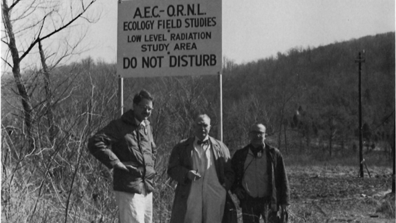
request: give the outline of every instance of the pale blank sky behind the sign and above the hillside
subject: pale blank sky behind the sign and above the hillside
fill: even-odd
[[[116,62],[117,1],[98,0],[81,55]],[[394,0],[223,0],[223,56],[236,63],[395,31]]]

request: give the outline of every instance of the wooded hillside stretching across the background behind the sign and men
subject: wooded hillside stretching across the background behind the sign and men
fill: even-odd
[[[361,52],[364,137],[367,143],[390,140],[395,108],[395,33],[378,34],[316,48],[291,48],[270,58],[236,64],[223,60],[224,141],[232,150],[246,144],[247,129],[254,122],[267,125],[270,140],[280,148],[311,141],[347,144],[358,137],[358,63]],[[32,76],[37,78],[33,79]],[[27,84],[39,85],[40,71],[25,74]],[[53,97],[62,113],[59,121],[82,100],[95,115],[116,117],[117,75],[114,64],[86,58],[51,70]],[[4,82],[3,82],[4,83]],[[94,87],[92,87],[94,86]],[[2,96],[13,94],[5,86]],[[218,81],[215,76],[124,79],[126,109],[141,88],[156,96],[152,116],[156,138],[172,144],[188,136],[196,113],[212,117],[211,134],[217,136]],[[36,88],[34,88],[36,89]],[[106,95],[103,95],[106,94]],[[32,91],[36,102],[40,92]],[[95,113],[96,100],[107,100]],[[100,102],[103,103],[103,102]],[[88,104],[88,105],[87,105]],[[4,110],[6,109],[6,110]],[[2,114],[14,109],[2,102]],[[82,112],[81,111],[81,112]],[[103,113],[105,111],[105,113]],[[109,116],[110,115],[110,116]],[[72,118],[72,117],[69,117]],[[6,119],[7,120],[7,119]],[[106,123],[100,123],[103,126]],[[288,138],[289,137],[289,138]],[[170,140],[169,140],[170,139]],[[302,142],[304,141],[304,144]],[[330,146],[331,147],[331,146]],[[170,149],[167,148],[167,150]]]

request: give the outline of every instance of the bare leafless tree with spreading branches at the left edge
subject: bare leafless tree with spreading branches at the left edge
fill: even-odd
[[[32,136],[32,127],[34,123],[34,106],[31,101],[31,92],[29,92],[21,73],[21,62],[29,55],[33,54],[34,46],[40,44],[41,62],[43,63],[44,73],[48,74],[48,67],[45,64],[44,52],[41,47],[43,40],[49,40],[61,31],[67,30],[72,24],[76,24],[78,19],[86,19],[83,15],[95,3],[96,0],[69,0],[69,7],[65,7],[63,1],[45,1],[30,0],[10,1],[2,0],[2,17],[4,24],[4,33],[2,43],[6,45],[6,51],[2,54],[2,60],[8,65],[13,74],[17,94],[21,98],[23,106],[23,119],[26,126],[25,135],[29,140],[29,151],[34,150],[34,138]],[[78,4],[77,4],[78,3]],[[64,11],[64,12],[63,12]],[[81,41],[77,41],[76,44]],[[70,55],[76,48],[76,44],[70,44],[66,41],[67,50],[59,56],[55,62],[58,64],[63,58]],[[56,54],[56,53],[54,53]],[[32,55],[33,56],[33,55]],[[49,76],[46,76],[49,77]],[[46,86],[49,87],[49,79],[46,78]],[[49,89],[49,88],[48,88]],[[49,91],[46,91],[50,94]],[[47,99],[51,103],[51,97]],[[49,105],[49,104],[48,104]],[[51,120],[51,118],[49,118]],[[49,124],[51,126],[51,124]]]

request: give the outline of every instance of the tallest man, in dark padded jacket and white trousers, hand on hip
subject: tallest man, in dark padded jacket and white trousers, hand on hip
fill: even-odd
[[[150,93],[141,90],[133,98],[133,110],[111,121],[89,138],[88,149],[109,169],[120,223],[152,222],[155,144],[147,118],[152,112]]]

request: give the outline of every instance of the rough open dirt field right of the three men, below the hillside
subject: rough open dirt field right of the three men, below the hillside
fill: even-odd
[[[389,194],[392,169],[369,167],[289,166],[289,223],[394,223],[395,197]],[[239,222],[242,222],[242,216]],[[261,220],[263,222],[263,220]]]

